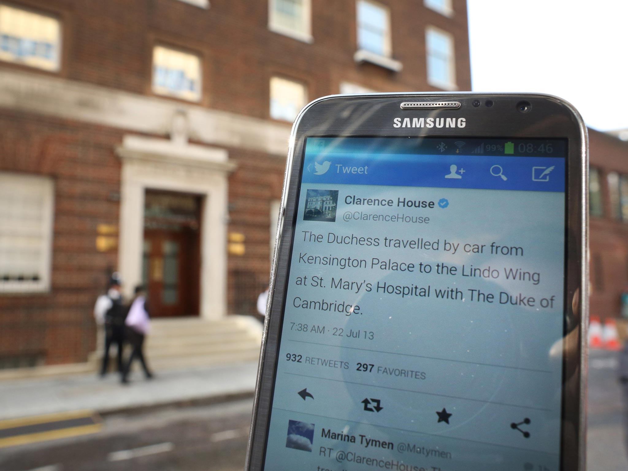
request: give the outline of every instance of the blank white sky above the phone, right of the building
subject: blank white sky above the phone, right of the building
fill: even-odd
[[[543,92],[628,129],[628,0],[468,0],[476,92]]]

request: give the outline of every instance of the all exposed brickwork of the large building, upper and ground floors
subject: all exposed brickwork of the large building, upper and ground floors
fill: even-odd
[[[58,73],[8,63],[0,68],[151,96],[153,46],[170,45],[202,58],[201,106],[261,119],[270,119],[273,75],[304,82],[310,100],[338,93],[341,82],[382,92],[436,90],[426,82],[428,24],[453,35],[458,89],[470,89],[465,0],[453,0],[452,18],[421,1],[380,0],[391,11],[393,58],[403,63],[398,73],[354,61],[353,0],[312,2],[311,44],[269,31],[267,0],[212,0],[207,10],[178,0],[11,3],[60,18],[62,68]],[[0,171],[55,179],[51,293],[0,296],[0,357],[42,354],[55,364],[85,360],[94,350],[94,300],[107,270],[117,266],[117,251],[98,252],[95,237],[98,224],[119,223],[121,169],[114,149],[122,134],[0,109]],[[246,238],[246,253],[229,256],[228,310],[251,312],[268,282],[270,205],[281,197],[285,158],[227,150],[238,165],[229,179],[229,232]]]

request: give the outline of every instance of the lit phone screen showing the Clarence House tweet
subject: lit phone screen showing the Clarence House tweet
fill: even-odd
[[[266,470],[560,468],[566,150],[306,139]]]

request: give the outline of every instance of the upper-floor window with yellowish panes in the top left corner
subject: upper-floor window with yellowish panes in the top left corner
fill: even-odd
[[[0,4],[0,60],[55,72],[60,50],[58,19]]]

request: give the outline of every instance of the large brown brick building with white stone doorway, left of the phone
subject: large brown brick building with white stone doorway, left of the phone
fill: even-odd
[[[296,112],[469,89],[464,0],[0,1],[0,368],[86,360],[113,270],[251,313]]]

